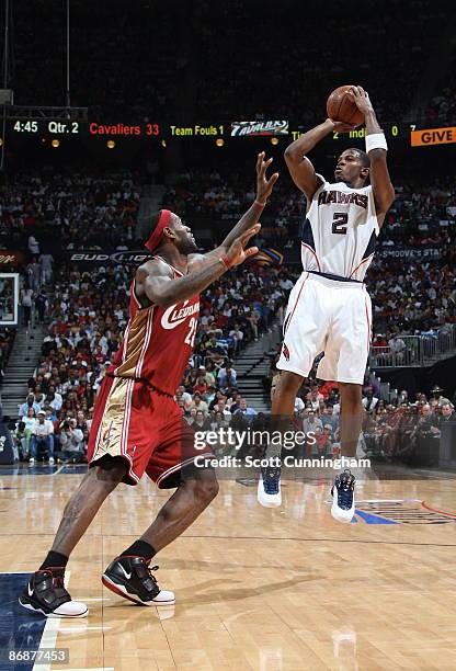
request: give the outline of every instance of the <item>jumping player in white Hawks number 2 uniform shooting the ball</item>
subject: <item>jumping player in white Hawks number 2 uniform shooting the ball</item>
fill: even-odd
[[[327,118],[285,151],[293,181],[306,194],[307,216],[301,228],[304,272],[292,289],[285,316],[277,363],[283,373],[272,419],[276,429],[286,429],[304,378],[315,357],[324,352],[317,377],[339,383],[341,453],[352,457],[361,432],[362,384],[371,343],[372,307],[363,280],[395,190],[385,135],[368,94],[362,87],[351,87],[346,95],[364,116],[366,151],[342,151],[333,182],[315,171],[307,153],[334,130],[344,133],[355,126]],[[266,455],[277,457],[277,450],[271,445]],[[276,463],[271,459],[271,466],[262,469],[258,489],[260,503],[271,508],[282,501]],[[354,487],[355,475],[350,470],[335,477],[331,508],[335,520],[351,522]]]

